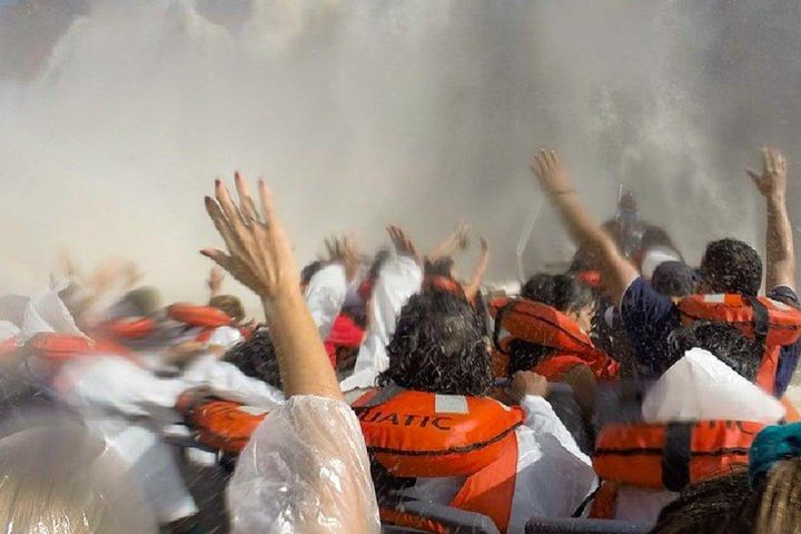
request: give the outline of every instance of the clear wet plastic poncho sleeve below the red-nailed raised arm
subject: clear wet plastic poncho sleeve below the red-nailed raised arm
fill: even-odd
[[[362,428],[343,402],[291,397],[239,455],[228,485],[235,534],[378,534]]]

